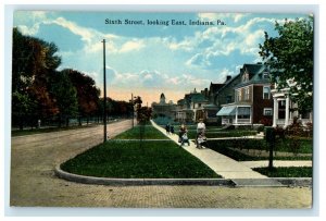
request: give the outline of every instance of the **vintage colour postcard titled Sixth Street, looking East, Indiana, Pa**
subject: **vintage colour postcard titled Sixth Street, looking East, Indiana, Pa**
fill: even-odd
[[[314,19],[15,11],[10,205],[311,209]]]

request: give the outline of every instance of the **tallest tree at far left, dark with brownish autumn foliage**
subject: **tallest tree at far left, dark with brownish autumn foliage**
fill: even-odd
[[[57,52],[58,48],[54,44],[24,36],[17,28],[13,28],[13,122],[15,119],[23,121],[27,119],[27,121],[33,122],[37,120],[29,118],[41,118],[58,113],[54,99],[48,90],[50,73],[55,72],[61,63],[61,58],[55,56]],[[32,100],[33,102],[30,102]],[[21,106],[25,108],[22,109]],[[20,122],[21,128],[23,128],[23,122]]]

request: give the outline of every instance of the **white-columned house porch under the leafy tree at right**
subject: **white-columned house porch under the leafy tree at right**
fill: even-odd
[[[293,86],[296,83],[293,81],[288,81],[289,86]],[[302,125],[306,123],[312,123],[313,114],[312,112],[299,113],[298,105],[291,100],[289,88],[278,88],[277,84],[272,89],[274,112],[273,112],[273,126],[287,127],[292,124],[293,119],[298,118]]]

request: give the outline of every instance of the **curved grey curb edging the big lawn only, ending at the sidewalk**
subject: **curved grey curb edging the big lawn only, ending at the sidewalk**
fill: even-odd
[[[65,172],[55,167],[54,173],[60,179],[84,184],[96,185],[121,185],[121,186],[138,186],[138,185],[209,185],[209,186],[235,186],[231,180],[226,179],[113,179],[113,177],[96,177],[85,176]]]

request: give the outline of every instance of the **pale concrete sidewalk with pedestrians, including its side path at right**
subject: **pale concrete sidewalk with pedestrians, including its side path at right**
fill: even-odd
[[[174,140],[176,144],[179,145],[178,143],[178,135],[176,134],[171,134],[167,135],[165,130],[158,124],[155,124],[153,121],[152,125],[161,131],[165,136]],[[269,179],[265,175],[262,175],[255,171],[253,171],[251,168],[254,167],[262,167],[262,165],[267,165],[267,161],[248,161],[248,162],[238,162],[229,157],[226,157],[224,155],[221,155],[214,150],[211,150],[209,148],[204,149],[198,149],[196,147],[196,144],[193,142],[190,142],[190,146],[188,144],[185,144],[183,146],[185,150],[200,159],[202,162],[204,162],[208,167],[210,167],[213,171],[215,171],[217,174],[222,175],[224,179],[229,179],[233,180],[237,185],[248,185],[250,183],[251,185],[273,185],[273,186],[280,186],[279,182]],[[275,164],[292,164],[293,162],[284,162],[283,161],[275,161]],[[297,162],[294,162],[297,163]],[[302,163],[308,163],[309,162],[299,162],[299,165],[302,165]],[[311,162],[310,162],[311,165]]]

